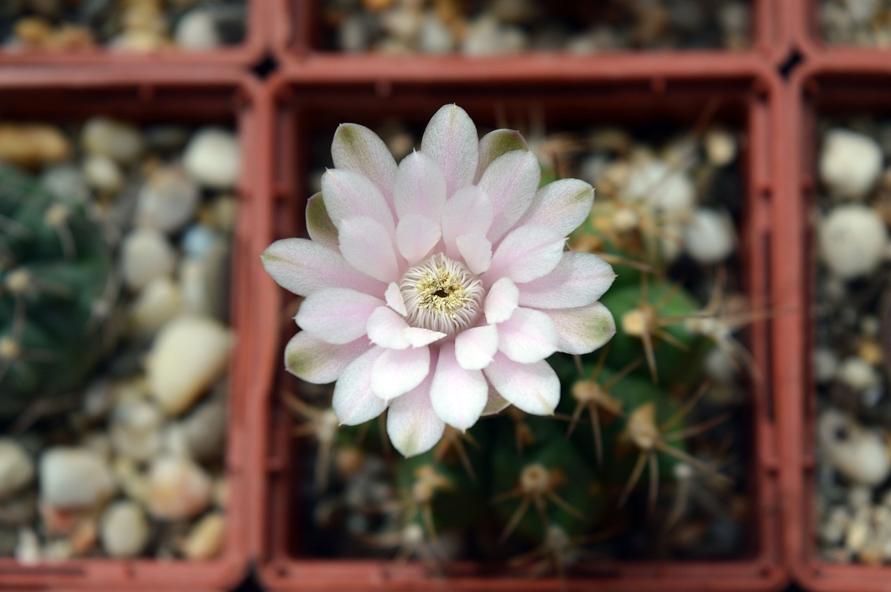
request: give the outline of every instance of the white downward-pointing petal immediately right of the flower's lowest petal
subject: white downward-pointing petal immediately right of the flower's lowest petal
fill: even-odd
[[[454,357],[454,344],[439,348],[439,361],[430,384],[430,401],[449,426],[466,430],[477,423],[488,401],[489,386],[479,370],[465,370]]]

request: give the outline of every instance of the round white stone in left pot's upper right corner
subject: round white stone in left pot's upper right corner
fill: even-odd
[[[188,174],[210,189],[232,189],[241,172],[238,138],[218,127],[205,127],[185,147],[183,164]]]

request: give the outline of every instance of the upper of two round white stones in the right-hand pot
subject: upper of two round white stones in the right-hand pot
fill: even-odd
[[[882,172],[882,149],[870,136],[830,130],[820,154],[820,179],[839,198],[862,199]]]

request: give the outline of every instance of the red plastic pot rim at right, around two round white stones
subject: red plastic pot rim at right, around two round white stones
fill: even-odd
[[[817,118],[822,114],[891,114],[891,61],[878,53],[859,53],[854,62],[839,63],[827,52],[796,72],[787,92],[787,117],[778,146],[788,149],[786,176],[789,199],[782,215],[785,231],[774,251],[776,265],[797,289],[781,295],[789,311],[779,317],[774,340],[777,397],[781,399],[782,448],[791,453],[784,473],[789,512],[784,544],[796,580],[813,590],[885,591],[891,567],[830,564],[819,561],[815,534],[816,397],[813,384],[813,302],[815,255],[808,225],[816,187]],[[832,50],[831,53],[836,53]],[[833,56],[834,58],[835,56]]]

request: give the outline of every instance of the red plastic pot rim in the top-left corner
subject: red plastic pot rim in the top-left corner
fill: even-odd
[[[244,41],[207,51],[180,51],[169,48],[159,52],[111,52],[102,46],[78,52],[44,52],[25,50],[0,51],[0,66],[96,66],[96,65],[151,65],[155,66],[251,66],[257,63],[269,45],[272,8],[270,0],[246,0],[248,26]]]

